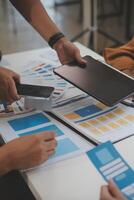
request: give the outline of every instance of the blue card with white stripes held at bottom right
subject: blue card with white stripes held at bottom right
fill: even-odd
[[[106,181],[113,179],[128,199],[134,199],[134,171],[111,142],[95,147],[87,156]]]

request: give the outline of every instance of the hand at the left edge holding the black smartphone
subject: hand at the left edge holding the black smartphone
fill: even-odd
[[[15,82],[20,82],[20,77],[15,72],[0,67],[0,100],[12,103],[19,99]]]

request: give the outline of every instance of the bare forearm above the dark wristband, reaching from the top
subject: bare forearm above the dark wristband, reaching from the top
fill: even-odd
[[[10,1],[46,41],[48,41],[52,35],[59,32],[58,27],[48,16],[40,0]]]

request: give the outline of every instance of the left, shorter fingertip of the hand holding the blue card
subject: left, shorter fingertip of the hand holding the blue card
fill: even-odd
[[[101,187],[100,199],[101,200],[112,200],[112,196],[109,193],[107,185],[104,185],[104,186]]]

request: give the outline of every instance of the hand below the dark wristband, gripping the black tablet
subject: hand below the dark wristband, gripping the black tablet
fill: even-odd
[[[72,60],[76,60],[80,64],[86,63],[81,57],[79,49],[66,38],[61,38],[53,48],[57,51],[62,64],[67,64]]]

